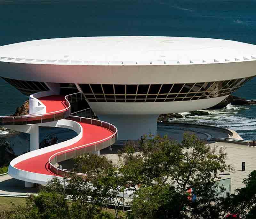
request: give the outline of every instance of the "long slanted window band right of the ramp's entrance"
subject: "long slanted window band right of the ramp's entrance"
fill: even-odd
[[[79,84],[89,102],[172,102],[226,96],[252,77],[179,84]]]

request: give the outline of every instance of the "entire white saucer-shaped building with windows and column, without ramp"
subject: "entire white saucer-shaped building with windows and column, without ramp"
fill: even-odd
[[[119,140],[155,134],[159,114],[216,105],[255,67],[256,45],[206,38],[76,37],[0,47],[7,82],[26,94],[32,82],[42,82],[37,91],[82,91],[94,113],[116,125]]]

